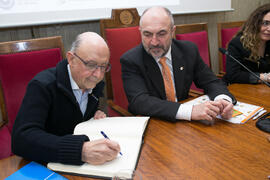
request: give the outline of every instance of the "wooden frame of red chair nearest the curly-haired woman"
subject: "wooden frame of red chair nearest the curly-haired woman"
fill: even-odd
[[[221,38],[221,30],[227,28],[235,28],[241,27],[245,21],[234,21],[234,22],[221,22],[217,23],[217,31],[218,31],[218,48],[222,48],[222,38]],[[222,53],[218,53],[219,59],[219,77],[223,77],[225,71],[223,69],[223,56]]]

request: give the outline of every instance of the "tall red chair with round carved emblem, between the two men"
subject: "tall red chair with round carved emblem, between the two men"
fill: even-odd
[[[109,116],[130,116],[121,77],[120,57],[141,42],[139,15],[135,8],[113,9],[111,19],[100,20],[102,37],[110,48],[112,69],[105,76]]]

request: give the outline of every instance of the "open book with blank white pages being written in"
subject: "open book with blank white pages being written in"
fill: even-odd
[[[107,117],[104,119],[90,119],[78,124],[74,134],[85,134],[91,140],[104,138],[101,131],[111,139],[119,143],[121,155],[103,165],[83,164],[65,165],[61,163],[48,163],[48,168],[58,172],[66,172],[92,177],[111,178],[123,176],[132,178],[136,169],[140,149],[143,140],[144,130],[149,117]]]

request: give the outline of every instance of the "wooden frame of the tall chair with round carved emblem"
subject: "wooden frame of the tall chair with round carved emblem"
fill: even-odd
[[[138,26],[140,21],[140,16],[136,8],[128,9],[113,9],[110,19],[100,20],[100,32],[101,36],[106,40],[105,29],[110,28],[125,28]],[[131,116],[132,114],[126,109],[116,105],[113,102],[113,88],[110,72],[106,73],[106,90],[107,90],[107,103],[116,112],[124,116]]]

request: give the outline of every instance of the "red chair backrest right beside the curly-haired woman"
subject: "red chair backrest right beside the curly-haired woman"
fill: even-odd
[[[228,43],[245,21],[222,22],[217,24],[218,47],[227,49]],[[226,72],[226,56],[219,53],[219,72]]]

